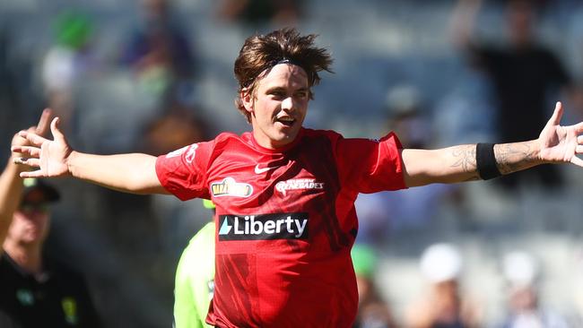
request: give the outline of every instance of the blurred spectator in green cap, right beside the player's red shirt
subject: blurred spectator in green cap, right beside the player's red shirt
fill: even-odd
[[[380,297],[374,282],[377,255],[369,246],[356,244],[352,247],[352,264],[356,273],[359,294],[359,308],[353,328],[393,328],[396,327],[389,306]]]

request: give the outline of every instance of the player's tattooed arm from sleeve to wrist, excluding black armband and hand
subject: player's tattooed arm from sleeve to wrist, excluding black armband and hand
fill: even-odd
[[[464,144],[434,151],[403,150],[406,186],[457,183],[481,179],[475,157],[475,144]],[[509,174],[542,164],[536,141],[494,145],[496,166]]]

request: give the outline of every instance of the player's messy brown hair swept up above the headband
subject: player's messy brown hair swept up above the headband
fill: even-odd
[[[308,74],[309,87],[320,82],[318,72],[332,73],[332,56],[326,48],[314,46],[316,37],[315,34],[302,36],[295,29],[286,28],[265,35],[253,35],[245,40],[235,60],[234,72],[239,82],[239,97],[235,105],[247,117],[248,123],[251,116],[245,110],[240,94],[242,91],[253,94],[260,77],[265,76],[274,65],[282,62],[299,65]],[[313,98],[311,89],[309,98]]]

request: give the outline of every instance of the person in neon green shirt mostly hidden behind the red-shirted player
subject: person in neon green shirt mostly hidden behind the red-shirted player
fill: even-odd
[[[204,207],[214,209],[211,201]],[[204,328],[214,291],[214,221],[200,229],[184,249],[176,269],[174,327]]]

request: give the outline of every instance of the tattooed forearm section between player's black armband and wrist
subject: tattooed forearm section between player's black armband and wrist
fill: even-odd
[[[533,166],[535,151],[531,142],[496,144],[494,156],[500,173],[509,174]]]

